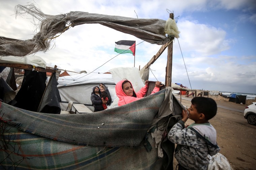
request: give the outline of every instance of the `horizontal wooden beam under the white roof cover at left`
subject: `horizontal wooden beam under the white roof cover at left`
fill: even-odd
[[[13,68],[24,69],[24,70],[33,69],[33,66],[29,64],[0,63],[0,66],[13,67]],[[35,70],[40,72],[50,72],[50,73],[54,73],[56,71],[56,69],[49,68],[49,67],[48,68],[35,67]]]

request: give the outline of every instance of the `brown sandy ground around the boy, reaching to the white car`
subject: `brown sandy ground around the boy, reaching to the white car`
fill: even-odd
[[[180,96],[175,96],[180,101]],[[191,105],[191,98],[182,96],[181,103]],[[250,125],[244,118],[246,105],[216,101],[217,115],[210,123],[217,131],[217,143],[234,170],[256,170],[256,126]],[[188,119],[187,124],[194,121]],[[173,169],[177,161],[173,160]]]

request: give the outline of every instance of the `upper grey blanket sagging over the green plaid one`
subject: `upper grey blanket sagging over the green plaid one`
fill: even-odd
[[[156,114],[169,103],[164,99],[169,99],[166,92],[171,95],[170,89],[124,106],[86,114],[45,114],[2,103],[0,116],[1,121],[19,130],[76,145],[138,146],[147,130],[159,121]],[[166,109],[162,117],[174,114],[170,106]]]

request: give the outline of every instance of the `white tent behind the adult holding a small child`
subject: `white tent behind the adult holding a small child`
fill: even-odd
[[[72,101],[73,103],[85,104],[90,110],[93,110],[91,102],[92,89],[95,86],[99,87],[101,82],[108,88],[113,101],[116,98],[116,84],[111,74],[82,73],[59,77],[57,87],[62,101],[60,104],[61,109],[65,110],[67,103]]]

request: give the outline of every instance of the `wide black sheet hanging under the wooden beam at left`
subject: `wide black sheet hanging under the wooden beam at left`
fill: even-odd
[[[10,105],[36,112],[46,88],[46,72],[24,71],[21,89]]]

